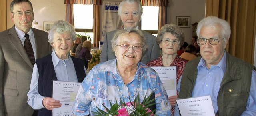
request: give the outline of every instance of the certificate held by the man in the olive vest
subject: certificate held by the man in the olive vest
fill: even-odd
[[[177,99],[182,116],[215,116],[211,96]]]

